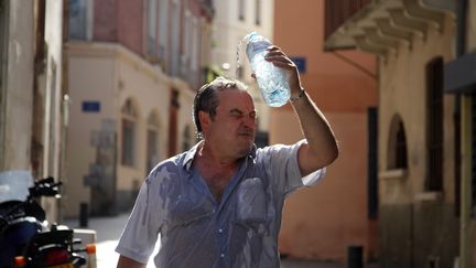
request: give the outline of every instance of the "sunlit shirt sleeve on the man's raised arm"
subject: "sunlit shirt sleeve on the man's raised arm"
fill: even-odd
[[[298,163],[298,151],[306,140],[292,146],[275,144],[262,149],[267,172],[273,183],[286,196],[299,187],[315,185],[324,178],[326,169],[320,169],[302,178]]]

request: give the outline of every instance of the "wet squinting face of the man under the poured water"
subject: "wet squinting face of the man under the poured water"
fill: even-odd
[[[205,137],[228,157],[246,157],[255,142],[256,110],[251,96],[236,88],[217,93],[218,107]]]

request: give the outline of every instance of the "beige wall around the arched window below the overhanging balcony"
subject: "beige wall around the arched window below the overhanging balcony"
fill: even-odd
[[[380,62],[379,103],[379,171],[380,202],[382,204],[411,203],[424,199],[426,176],[426,78],[425,66],[432,58],[443,56],[444,62],[453,57],[454,23],[446,20],[444,33],[431,28],[426,40],[415,37],[409,51],[401,45],[388,62]],[[396,57],[398,55],[398,57]],[[412,67],[409,67],[412,66]],[[454,200],[453,178],[453,96],[444,95],[444,199]],[[388,144],[391,119],[402,118],[408,148],[408,175],[386,179],[388,169]]]

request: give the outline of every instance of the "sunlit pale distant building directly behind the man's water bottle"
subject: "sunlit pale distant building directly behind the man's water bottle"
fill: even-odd
[[[268,144],[269,107],[251,77],[242,40],[248,33],[256,31],[272,42],[274,0],[215,1],[215,10],[212,66],[218,73],[238,78],[249,86],[258,112],[256,143],[263,147]]]

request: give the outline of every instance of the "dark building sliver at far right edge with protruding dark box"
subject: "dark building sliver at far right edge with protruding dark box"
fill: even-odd
[[[455,98],[461,268],[476,267],[476,1],[458,1],[456,53],[444,66],[444,92]]]

